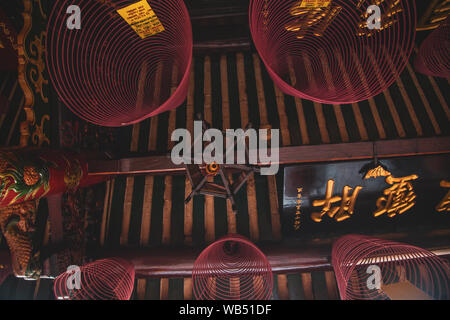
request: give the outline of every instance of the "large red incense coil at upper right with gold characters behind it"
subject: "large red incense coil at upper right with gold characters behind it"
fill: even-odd
[[[381,11],[380,29],[367,24],[372,4]],[[275,84],[319,103],[381,93],[401,74],[415,39],[413,1],[251,0],[249,11],[253,41]]]

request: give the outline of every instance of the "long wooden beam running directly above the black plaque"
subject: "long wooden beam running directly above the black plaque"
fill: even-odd
[[[374,154],[376,150],[376,155]],[[297,146],[280,148],[280,165],[349,161],[378,158],[407,157],[450,153],[450,137],[382,140],[375,142],[355,142]],[[259,165],[267,165],[259,163]],[[183,174],[185,167],[175,165],[170,156],[148,156],[119,160],[92,161],[89,174]]]

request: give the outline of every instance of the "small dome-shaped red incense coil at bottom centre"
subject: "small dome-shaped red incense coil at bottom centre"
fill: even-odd
[[[272,296],[272,268],[252,242],[229,235],[198,256],[192,286],[197,300],[268,300]]]

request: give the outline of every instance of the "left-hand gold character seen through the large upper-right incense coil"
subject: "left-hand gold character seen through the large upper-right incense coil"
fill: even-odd
[[[341,10],[342,7],[333,6],[331,1],[318,2],[312,6],[305,6],[302,1],[296,2],[289,13],[298,18],[287,24],[285,29],[296,32],[298,39],[303,39],[308,30],[321,37]]]

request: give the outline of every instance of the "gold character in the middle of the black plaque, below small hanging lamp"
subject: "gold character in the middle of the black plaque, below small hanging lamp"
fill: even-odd
[[[384,190],[383,193],[386,197],[378,198],[378,210],[374,212],[374,217],[387,213],[388,217],[392,218],[397,214],[402,214],[411,209],[416,204],[416,195],[413,186],[409,181],[418,178],[419,177],[415,174],[402,178],[388,176],[386,182],[392,185],[392,187]]]

